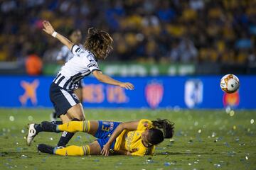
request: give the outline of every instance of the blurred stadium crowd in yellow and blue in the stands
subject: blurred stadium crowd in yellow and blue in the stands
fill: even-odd
[[[109,60],[138,62],[256,62],[256,0],[4,0],[0,2],[0,61],[36,54],[53,62],[60,43],[41,30],[48,20],[106,30]]]

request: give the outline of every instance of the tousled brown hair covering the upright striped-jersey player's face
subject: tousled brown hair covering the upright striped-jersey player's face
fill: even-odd
[[[113,39],[108,33],[97,28],[89,28],[85,40],[85,48],[90,50],[97,59],[104,60],[112,50]]]

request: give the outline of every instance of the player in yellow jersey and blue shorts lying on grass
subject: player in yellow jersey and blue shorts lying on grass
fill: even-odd
[[[119,123],[111,121],[71,121],[63,125],[42,122],[41,132],[87,132],[97,138],[85,146],[71,145],[58,148],[45,144],[38,145],[40,152],[68,156],[82,155],[149,155],[154,153],[155,145],[171,138],[174,134],[174,123],[169,120],[136,120]],[[38,134],[38,132],[36,132]]]

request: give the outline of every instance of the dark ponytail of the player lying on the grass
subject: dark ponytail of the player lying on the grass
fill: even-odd
[[[155,128],[162,129],[164,138],[171,138],[174,135],[174,123],[168,119],[156,119],[151,121]]]

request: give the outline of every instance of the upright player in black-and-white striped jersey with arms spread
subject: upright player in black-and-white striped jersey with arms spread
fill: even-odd
[[[89,28],[83,45],[84,48],[81,48],[63,35],[55,32],[48,21],[43,21],[43,30],[52,35],[53,38],[60,40],[74,55],[61,67],[50,85],[50,101],[52,101],[62,123],[68,123],[71,120],[85,120],[82,104],[73,91],[78,88],[78,82],[89,74],[93,74],[96,79],[105,84],[112,84],[129,90],[134,89],[133,84],[117,81],[100,71],[97,60],[105,60],[112,50],[113,40],[105,31]],[[27,145],[31,145],[33,138],[41,130],[41,126],[33,123],[28,125]],[[72,132],[63,132],[57,146],[65,147],[73,135]]]

